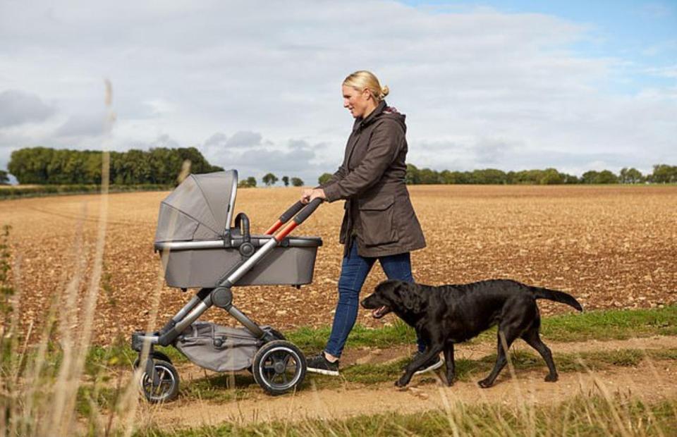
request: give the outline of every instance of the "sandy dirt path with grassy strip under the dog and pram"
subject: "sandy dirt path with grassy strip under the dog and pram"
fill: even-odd
[[[556,352],[585,352],[627,348],[663,349],[677,347],[677,337],[633,338],[608,342],[551,343]],[[362,354],[358,362],[385,362],[398,359],[404,348]],[[459,347],[458,357],[477,359],[493,352],[487,344]],[[358,354],[355,354],[358,355]],[[383,359],[386,358],[386,359]],[[140,414],[146,421],[163,428],[215,425],[226,421],[244,424],[255,421],[298,421],[309,418],[340,419],[358,414],[384,412],[413,413],[425,410],[444,410],[456,402],[473,405],[482,402],[511,404],[517,399],[525,402],[560,402],[579,394],[632,393],[642,400],[677,398],[677,362],[643,361],[638,367],[616,367],[594,374],[560,374],[557,383],[543,381],[545,366],[538,371],[519,371],[516,379],[504,369],[489,389],[478,388],[473,382],[457,382],[444,386],[437,376],[415,377],[405,390],[392,383],[355,388],[346,381],[343,388],[304,390],[296,395],[272,398],[254,393],[246,400],[210,403],[182,399],[170,405],[146,405]],[[432,381],[437,378],[437,382]]]

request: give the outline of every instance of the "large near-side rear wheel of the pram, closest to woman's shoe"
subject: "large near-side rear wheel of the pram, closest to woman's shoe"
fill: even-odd
[[[305,369],[303,352],[284,340],[263,345],[252,364],[254,381],[271,395],[281,395],[300,386]]]

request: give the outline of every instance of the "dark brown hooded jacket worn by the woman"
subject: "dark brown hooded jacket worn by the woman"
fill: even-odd
[[[404,183],[407,170],[405,116],[381,101],[358,118],[346,144],[343,164],[322,185],[329,202],[346,199],[339,240],[358,254],[384,257],[425,247],[425,238]]]

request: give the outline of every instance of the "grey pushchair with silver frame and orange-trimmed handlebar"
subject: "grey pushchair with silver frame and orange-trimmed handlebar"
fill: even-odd
[[[240,312],[233,304],[233,288],[311,283],[322,239],[288,235],[322,200],[296,202],[264,235],[251,235],[243,212],[231,227],[237,187],[236,170],[190,175],[160,204],[154,249],[165,281],[183,291],[198,290],[159,331],[132,334],[132,348],[139,352],[135,367],[142,367],[140,388],[150,402],[178,396],[178,372],[167,355],[155,350],[158,345],[176,347],[206,369],[248,369],[271,395],[295,390],[303,382],[303,352],[276,329]],[[197,321],[212,306],[226,310],[243,327]]]

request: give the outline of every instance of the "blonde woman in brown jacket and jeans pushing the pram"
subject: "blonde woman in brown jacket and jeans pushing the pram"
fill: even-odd
[[[358,315],[360,289],[378,259],[389,279],[413,282],[410,252],[425,247],[421,226],[404,183],[407,141],[404,118],[386,105],[388,87],[369,71],[343,81],[343,107],[355,118],[343,164],[319,187],[304,190],[301,202],[317,197],[345,199],[339,240],[344,245],[338,303],[329,342],[308,359],[308,371],[338,376],[338,359]],[[425,349],[418,342],[418,352]],[[437,369],[439,357],[419,372]]]

